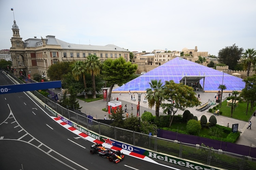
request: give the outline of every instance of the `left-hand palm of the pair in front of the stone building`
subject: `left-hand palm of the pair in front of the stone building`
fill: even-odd
[[[75,67],[72,70],[72,74],[75,78],[75,80],[79,80],[80,77],[83,77],[84,80],[84,89],[85,89],[85,98],[87,99],[87,86],[86,86],[86,80],[85,80],[85,74],[86,74],[86,69],[85,69],[85,62],[77,61],[75,62]]]

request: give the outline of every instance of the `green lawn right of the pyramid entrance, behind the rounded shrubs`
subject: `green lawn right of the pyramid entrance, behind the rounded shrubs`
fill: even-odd
[[[246,102],[239,102],[238,106],[235,108],[235,111],[233,111],[233,118],[238,119],[238,120],[243,120],[243,121],[248,121],[253,112],[255,111],[255,108],[250,112],[250,107],[251,105],[249,104],[249,108],[248,108],[248,112],[246,115],[246,107],[247,107],[247,103]],[[227,116],[227,117],[231,117],[231,107],[227,106],[227,101],[223,101],[222,102],[222,106],[221,108],[216,107],[216,109],[219,109],[219,111],[222,111],[222,115],[223,116]],[[213,113],[214,111],[212,111]]]

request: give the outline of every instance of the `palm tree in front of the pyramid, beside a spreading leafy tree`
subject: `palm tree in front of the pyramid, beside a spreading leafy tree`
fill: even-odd
[[[162,82],[161,80],[151,80],[150,88],[147,89],[146,99],[148,101],[148,107],[152,108],[156,105],[156,116],[159,116],[159,108],[162,102]]]

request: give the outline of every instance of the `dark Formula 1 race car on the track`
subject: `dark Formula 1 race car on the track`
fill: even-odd
[[[114,163],[120,162],[125,157],[125,155],[121,153],[119,150],[113,151],[112,149],[102,147],[102,145],[99,143],[94,143],[91,146],[90,153],[96,153],[99,156],[102,156],[103,158],[109,158],[109,161]]]

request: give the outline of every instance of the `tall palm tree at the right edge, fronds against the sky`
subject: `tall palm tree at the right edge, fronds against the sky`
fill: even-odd
[[[247,70],[247,77],[249,77],[251,65],[253,65],[253,67],[255,68],[256,50],[254,50],[254,48],[248,48],[247,50],[245,50],[242,56],[242,60],[244,63],[244,67]]]

